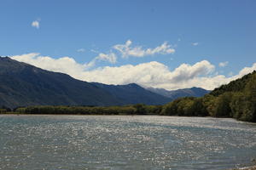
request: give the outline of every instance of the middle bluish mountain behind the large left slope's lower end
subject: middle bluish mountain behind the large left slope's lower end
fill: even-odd
[[[125,104],[143,103],[146,105],[163,105],[172,99],[164,97],[160,94],[154,94],[135,83],[127,85],[106,85],[98,82],[92,82],[99,88],[106,90],[117,99]]]

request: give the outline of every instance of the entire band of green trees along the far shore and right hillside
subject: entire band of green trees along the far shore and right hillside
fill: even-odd
[[[0,113],[9,112],[8,108]],[[166,105],[125,106],[30,106],[14,110],[20,114],[148,115],[233,117],[256,122],[256,71],[215,88],[201,98],[184,97]]]

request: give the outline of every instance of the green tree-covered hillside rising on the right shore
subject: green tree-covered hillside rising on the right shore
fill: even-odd
[[[256,71],[214,89],[202,98],[180,98],[164,105],[161,115],[234,117],[256,122]]]

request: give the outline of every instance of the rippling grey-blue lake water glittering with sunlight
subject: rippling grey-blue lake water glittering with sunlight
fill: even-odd
[[[225,169],[256,124],[176,116],[0,116],[0,169]]]

